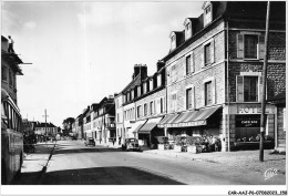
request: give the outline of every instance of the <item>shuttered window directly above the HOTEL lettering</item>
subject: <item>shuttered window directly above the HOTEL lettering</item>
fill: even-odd
[[[258,75],[238,75],[237,102],[260,102],[263,78]]]

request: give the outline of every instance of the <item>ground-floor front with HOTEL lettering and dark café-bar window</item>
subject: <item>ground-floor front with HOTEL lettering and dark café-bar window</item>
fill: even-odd
[[[275,138],[275,106],[267,104],[265,114],[265,148],[272,148]],[[235,103],[229,106],[229,140],[232,149],[259,148],[260,117],[260,103]]]

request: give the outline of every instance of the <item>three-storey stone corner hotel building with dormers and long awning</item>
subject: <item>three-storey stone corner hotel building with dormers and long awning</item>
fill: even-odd
[[[285,2],[271,2],[267,100],[286,91]],[[267,2],[206,1],[203,14],[171,32],[165,134],[213,135],[229,151],[260,133]],[[275,105],[267,103],[266,135],[275,137]]]

